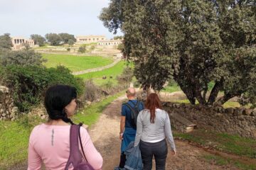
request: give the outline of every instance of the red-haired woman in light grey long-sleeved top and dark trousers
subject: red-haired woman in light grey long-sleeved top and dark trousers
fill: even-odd
[[[156,160],[156,170],[162,170],[165,169],[168,153],[166,138],[171,145],[171,154],[176,154],[169,115],[161,109],[161,101],[157,94],[149,94],[145,108],[139,112],[137,118],[134,146],[139,145],[144,170],[152,169],[153,155]]]

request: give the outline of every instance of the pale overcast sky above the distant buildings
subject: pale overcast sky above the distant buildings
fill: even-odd
[[[109,0],[0,0],[0,35],[114,35],[99,20]],[[117,35],[122,35],[120,31]]]

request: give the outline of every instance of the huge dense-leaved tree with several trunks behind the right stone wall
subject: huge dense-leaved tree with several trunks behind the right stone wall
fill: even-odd
[[[253,0],[111,0],[100,19],[124,33],[124,55],[134,60],[145,89],[174,79],[193,104],[238,96],[255,105],[255,6]]]

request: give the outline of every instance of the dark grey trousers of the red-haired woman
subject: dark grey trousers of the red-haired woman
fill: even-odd
[[[166,140],[162,140],[156,143],[139,142],[139,149],[142,153],[143,170],[152,169],[153,155],[156,160],[156,170],[164,170],[166,165],[166,157],[168,153],[168,147]]]

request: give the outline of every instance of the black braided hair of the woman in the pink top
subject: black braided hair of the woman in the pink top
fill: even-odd
[[[77,98],[77,91],[73,86],[54,85],[46,91],[44,105],[50,120],[63,120],[65,123],[74,124],[65,112],[65,106]]]

